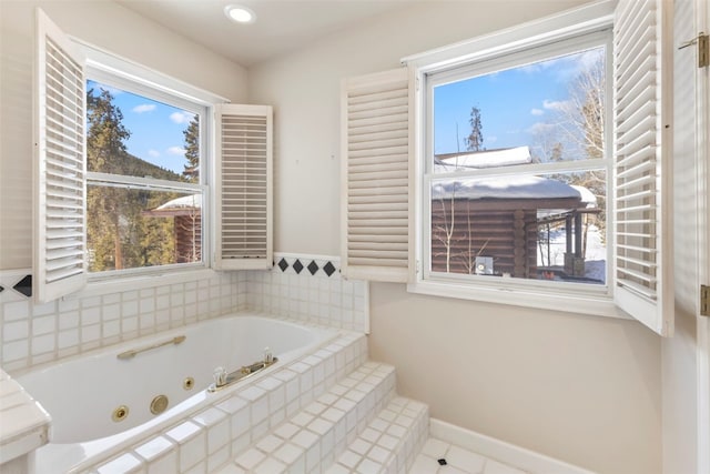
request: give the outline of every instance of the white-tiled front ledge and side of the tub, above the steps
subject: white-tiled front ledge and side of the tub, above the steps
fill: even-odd
[[[335,340],[258,380],[211,394],[172,425],[113,445],[72,472],[213,473],[337,386],[367,359],[364,334]],[[393,380],[394,383],[394,380]],[[394,386],[394,385],[393,385]]]

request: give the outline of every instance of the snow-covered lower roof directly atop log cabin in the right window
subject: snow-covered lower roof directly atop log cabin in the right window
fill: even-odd
[[[484,199],[581,199],[581,193],[569,184],[540,177],[496,177],[448,180],[435,184],[432,198]],[[591,193],[590,193],[591,194]]]

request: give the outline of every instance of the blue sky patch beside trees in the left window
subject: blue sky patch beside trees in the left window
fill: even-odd
[[[125,141],[129,153],[161,168],[182,173],[185,138],[193,113],[131,92],[89,81],[88,89],[106,89],[123,113],[123,125],[131,132]]]

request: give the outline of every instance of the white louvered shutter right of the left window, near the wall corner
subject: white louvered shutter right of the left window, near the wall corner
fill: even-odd
[[[216,107],[217,269],[272,266],[272,117],[268,105]]]

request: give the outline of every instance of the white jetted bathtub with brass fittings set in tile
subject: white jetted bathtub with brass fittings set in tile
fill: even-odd
[[[91,457],[175,424],[336,334],[335,330],[233,314],[17,376],[52,417],[51,442],[37,450],[30,463],[36,473],[90,465]],[[278,361],[214,393],[206,390],[215,367],[232,372],[262,361],[265,351]],[[164,411],[153,414],[151,409]]]

